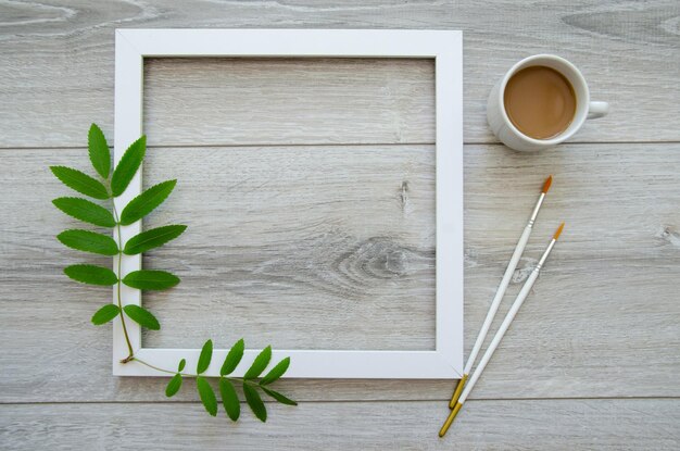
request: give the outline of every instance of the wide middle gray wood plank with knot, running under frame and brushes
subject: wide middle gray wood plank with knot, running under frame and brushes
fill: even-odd
[[[554,227],[567,221],[474,398],[680,396],[679,150],[678,145],[572,145],[526,155],[501,146],[466,147],[467,352],[549,173],[555,183],[508,297]],[[316,173],[322,160],[314,155],[322,151],[328,171]],[[352,158],[341,158],[348,152]],[[85,149],[2,151],[0,189],[11,193],[0,200],[2,402],[164,399],[165,379],[111,376],[110,328],[89,324],[110,291],[75,285],[61,274],[78,256],[53,235],[76,223],[49,204],[67,191],[47,164],[83,167],[85,159]],[[199,346],[207,336],[218,343],[245,336],[253,347],[314,346],[325,339],[320,325],[327,318],[357,320],[362,309],[375,308],[358,305],[348,314],[347,302],[385,306],[389,289],[401,287],[424,301],[414,317],[429,321],[405,322],[405,309],[414,305],[396,290],[401,310],[387,313],[402,336],[368,314],[361,321],[380,334],[361,325],[342,335],[337,324],[326,327],[339,342],[357,348],[429,346],[431,171],[428,146],[153,149],[148,183],[178,177],[179,185],[149,224],[186,220],[190,228],[147,259],[149,267],[184,278],[167,296],[146,299],[164,325],[148,340]],[[280,224],[272,224],[273,214]],[[378,245],[366,245],[372,242]],[[323,259],[343,252],[345,265]],[[362,287],[370,296],[362,298]],[[297,317],[303,313],[297,299],[327,309],[308,313],[312,331]],[[227,309],[237,314],[213,314]],[[285,381],[281,389],[301,400],[443,400],[451,383],[305,380]]]

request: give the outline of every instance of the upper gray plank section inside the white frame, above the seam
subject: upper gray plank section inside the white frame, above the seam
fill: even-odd
[[[151,59],[144,87],[153,145],[435,141],[435,60]]]

